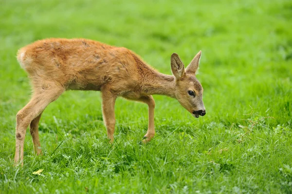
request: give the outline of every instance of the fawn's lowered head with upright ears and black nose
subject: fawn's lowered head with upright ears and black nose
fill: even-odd
[[[196,78],[199,68],[201,51],[194,57],[191,63],[184,69],[179,55],[171,55],[171,71],[175,76],[175,97],[179,103],[196,118],[206,114],[203,103],[203,88]]]

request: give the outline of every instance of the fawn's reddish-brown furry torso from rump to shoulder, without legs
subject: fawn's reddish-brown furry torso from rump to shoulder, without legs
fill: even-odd
[[[55,81],[66,89],[113,90],[138,87],[134,53],[88,39],[44,39],[18,51],[29,77]],[[117,91],[119,92],[119,91]]]

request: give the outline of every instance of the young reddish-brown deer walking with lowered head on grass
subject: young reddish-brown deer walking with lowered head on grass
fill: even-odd
[[[170,58],[173,75],[156,71],[124,47],[75,38],[37,40],[18,50],[17,59],[32,85],[29,103],[16,115],[15,165],[23,165],[23,147],[29,126],[34,152],[41,153],[38,123],[44,109],[66,90],[101,91],[102,115],[110,143],[114,141],[117,97],[148,105],[148,129],[143,143],[154,138],[153,94],[175,98],[194,117],[206,114],[203,88],[196,78],[201,51],[184,68],[179,55]]]

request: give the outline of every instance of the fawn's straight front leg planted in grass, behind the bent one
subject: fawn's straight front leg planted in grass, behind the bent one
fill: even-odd
[[[114,103],[116,96],[114,96],[110,91],[102,91],[102,115],[104,123],[107,127],[108,138],[110,142],[113,142],[113,133],[115,125],[114,117]]]

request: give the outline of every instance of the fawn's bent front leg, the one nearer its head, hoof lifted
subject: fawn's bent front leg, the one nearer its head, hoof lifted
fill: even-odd
[[[140,97],[139,101],[144,102],[148,105],[148,130],[146,135],[144,136],[143,143],[149,142],[155,135],[154,129],[154,108],[155,101],[151,95]]]

